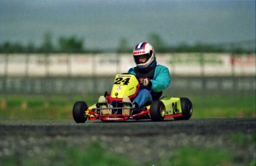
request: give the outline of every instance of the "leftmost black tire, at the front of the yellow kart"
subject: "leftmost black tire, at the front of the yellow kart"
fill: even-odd
[[[88,106],[83,101],[77,101],[73,105],[73,120],[76,123],[83,123],[87,120],[88,116],[85,115],[85,111],[88,110]]]

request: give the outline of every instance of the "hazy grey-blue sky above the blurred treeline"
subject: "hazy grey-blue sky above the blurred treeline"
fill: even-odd
[[[50,32],[83,38],[85,48],[114,49],[150,43],[166,45],[255,39],[255,0],[1,0],[0,43],[40,45]]]

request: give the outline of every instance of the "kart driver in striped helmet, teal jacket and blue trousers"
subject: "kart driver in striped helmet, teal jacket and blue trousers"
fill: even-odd
[[[136,66],[129,69],[128,73],[136,75],[140,89],[132,100],[132,106],[142,108],[148,106],[153,100],[158,100],[171,83],[170,72],[167,67],[157,65],[153,46],[142,42],[134,47],[134,61]],[[128,97],[123,102],[131,102]],[[106,102],[104,96],[99,97],[99,103]],[[103,112],[104,114],[104,112]]]

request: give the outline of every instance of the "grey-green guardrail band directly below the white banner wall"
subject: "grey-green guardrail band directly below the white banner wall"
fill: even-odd
[[[114,77],[1,77],[0,93],[89,95],[111,91]],[[171,77],[168,94],[255,93],[255,77]]]

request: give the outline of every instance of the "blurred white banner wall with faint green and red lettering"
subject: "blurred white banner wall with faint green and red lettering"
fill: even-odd
[[[216,76],[255,75],[255,54],[215,53],[157,54],[157,63],[171,75]],[[134,66],[131,54],[0,54],[0,75],[8,76],[88,76],[115,75]]]

